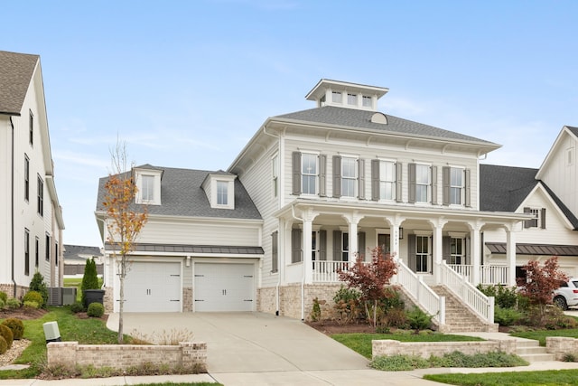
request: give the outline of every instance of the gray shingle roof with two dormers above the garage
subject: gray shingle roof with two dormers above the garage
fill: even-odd
[[[148,212],[151,215],[261,220],[261,214],[257,211],[255,203],[238,179],[235,180],[235,209],[215,209],[210,207],[207,195],[201,188],[207,175],[215,172],[153,167],[163,170],[163,181],[161,183],[162,205],[148,205]],[[105,211],[102,202],[104,202],[107,180],[108,177],[103,177],[98,182],[97,211]]]

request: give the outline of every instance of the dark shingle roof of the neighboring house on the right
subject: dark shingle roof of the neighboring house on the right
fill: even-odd
[[[537,169],[480,165],[480,211],[515,212],[538,184]]]

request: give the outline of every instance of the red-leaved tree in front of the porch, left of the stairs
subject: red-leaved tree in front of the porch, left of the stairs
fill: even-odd
[[[371,250],[371,262],[365,263],[358,257],[349,270],[339,271],[341,281],[361,292],[360,300],[365,305],[369,323],[374,326],[378,324],[378,301],[388,296],[386,285],[396,273],[396,262],[390,254],[384,253],[381,247]],[[373,308],[373,318],[370,317],[369,306]]]

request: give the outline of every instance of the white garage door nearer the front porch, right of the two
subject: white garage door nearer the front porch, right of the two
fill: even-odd
[[[195,311],[253,311],[254,267],[195,263]]]

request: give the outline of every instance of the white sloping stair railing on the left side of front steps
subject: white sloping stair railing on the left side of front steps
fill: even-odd
[[[415,275],[402,260],[397,260],[396,263],[396,284],[403,286],[440,325],[445,325],[445,297],[439,297],[432,288],[427,287],[423,277]]]

